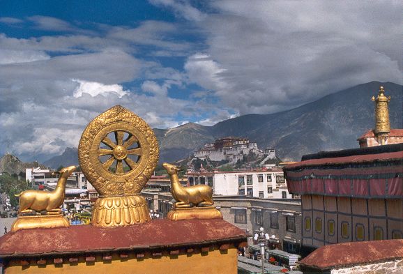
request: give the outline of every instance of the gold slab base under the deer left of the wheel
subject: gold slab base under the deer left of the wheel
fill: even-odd
[[[11,232],[20,229],[70,227],[70,223],[61,214],[18,216],[11,226]]]

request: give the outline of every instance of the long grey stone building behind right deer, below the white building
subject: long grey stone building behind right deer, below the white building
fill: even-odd
[[[162,217],[172,209],[174,199],[169,192],[143,191],[149,208]],[[214,196],[214,206],[224,220],[249,234],[248,245],[254,245],[253,234],[260,227],[270,235],[269,247],[298,253],[301,247],[301,199],[259,199],[236,196]]]

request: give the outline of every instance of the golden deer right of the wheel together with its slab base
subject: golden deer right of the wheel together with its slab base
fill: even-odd
[[[169,174],[171,193],[176,201],[173,210],[168,214],[170,220],[222,218],[220,211],[212,206],[214,201],[211,187],[208,185],[183,187],[178,178],[178,171],[181,169],[167,162],[164,162],[162,167]]]

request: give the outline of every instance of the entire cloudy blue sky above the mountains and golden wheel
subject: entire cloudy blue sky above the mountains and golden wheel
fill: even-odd
[[[60,154],[118,104],[172,128],[402,84],[401,1],[360,3],[0,1],[0,153]]]

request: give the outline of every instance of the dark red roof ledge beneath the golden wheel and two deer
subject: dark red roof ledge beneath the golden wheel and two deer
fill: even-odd
[[[221,219],[161,219],[112,228],[79,225],[22,229],[0,237],[0,257],[181,248],[246,239],[243,230]]]

